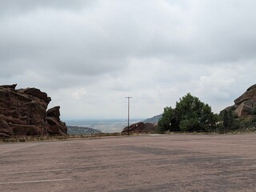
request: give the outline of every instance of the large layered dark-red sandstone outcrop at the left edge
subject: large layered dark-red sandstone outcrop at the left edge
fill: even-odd
[[[59,106],[47,111],[51,98],[36,88],[0,86],[0,135],[66,134]]]

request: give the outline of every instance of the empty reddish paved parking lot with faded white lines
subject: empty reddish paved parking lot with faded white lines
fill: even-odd
[[[0,144],[0,191],[256,191],[256,134]]]

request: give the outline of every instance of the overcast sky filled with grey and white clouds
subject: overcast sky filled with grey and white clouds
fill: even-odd
[[[0,82],[62,119],[150,118],[186,93],[215,113],[256,83],[255,0],[1,0]]]

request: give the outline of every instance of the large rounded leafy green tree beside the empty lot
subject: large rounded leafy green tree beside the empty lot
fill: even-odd
[[[218,115],[212,112],[211,107],[188,93],[176,102],[174,109],[164,108],[158,127],[161,132],[214,130],[216,122]]]

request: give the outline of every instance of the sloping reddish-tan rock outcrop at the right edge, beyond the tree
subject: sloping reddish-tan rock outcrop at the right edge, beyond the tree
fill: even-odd
[[[256,107],[256,84],[250,86],[244,94],[234,100],[234,106],[225,110],[234,110],[238,118],[245,118],[250,115]]]

